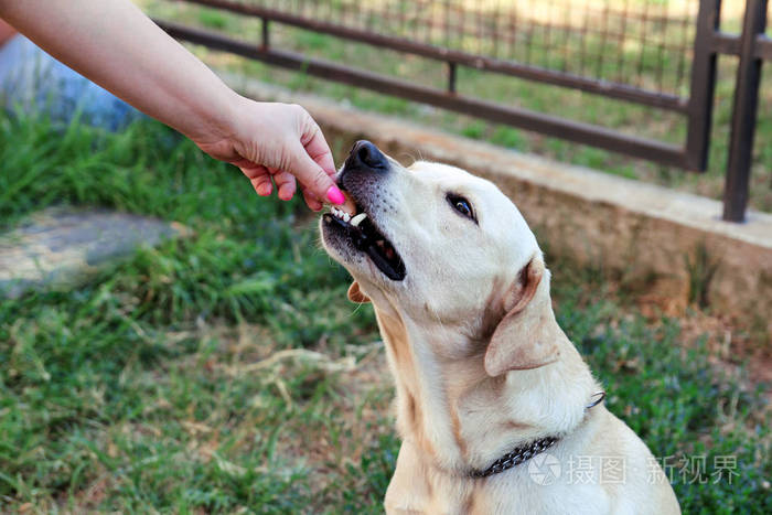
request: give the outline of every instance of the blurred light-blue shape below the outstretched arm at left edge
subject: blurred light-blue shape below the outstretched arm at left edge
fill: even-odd
[[[117,130],[140,112],[60,63],[21,34],[0,47],[0,106],[43,111],[52,120],[81,119]]]

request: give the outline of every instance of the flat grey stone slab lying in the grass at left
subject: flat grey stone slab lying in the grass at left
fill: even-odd
[[[71,288],[139,246],[184,234],[174,223],[106,210],[52,207],[0,235],[0,296]]]

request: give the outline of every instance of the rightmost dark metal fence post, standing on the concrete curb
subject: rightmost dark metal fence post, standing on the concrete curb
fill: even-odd
[[[762,63],[761,57],[755,55],[755,47],[757,37],[766,29],[766,2],[748,0],[746,3],[723,186],[723,219],[728,222],[746,219]]]

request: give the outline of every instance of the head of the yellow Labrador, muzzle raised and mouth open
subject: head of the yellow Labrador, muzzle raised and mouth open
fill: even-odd
[[[419,161],[404,168],[368,141],[337,175],[347,206],[320,221],[326,251],[353,276],[350,299],[372,299],[417,326],[486,342],[489,375],[555,360],[548,271],[534,234],[493,183]]]

